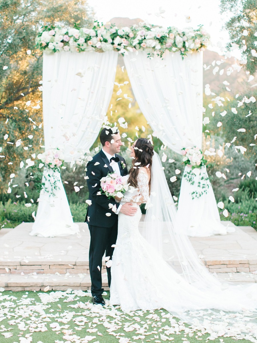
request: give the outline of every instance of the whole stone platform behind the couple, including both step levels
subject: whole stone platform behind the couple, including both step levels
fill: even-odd
[[[225,222],[226,224],[228,222]],[[232,223],[230,225],[233,226]],[[89,231],[79,223],[80,233],[66,237],[29,236],[32,223],[0,230],[0,287],[10,290],[88,289]],[[235,227],[226,236],[191,237],[198,256],[221,280],[257,282],[257,232]],[[107,288],[103,261],[103,286]],[[229,274],[228,274],[229,273]]]

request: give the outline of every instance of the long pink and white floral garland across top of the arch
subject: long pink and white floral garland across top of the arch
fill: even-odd
[[[166,50],[180,51],[182,58],[194,51],[202,51],[210,43],[210,35],[203,25],[197,29],[186,27],[183,30],[175,26],[164,28],[154,25],[133,25],[118,28],[106,28],[95,22],[92,28],[50,25],[40,29],[36,38],[39,49],[47,52],[57,51],[128,51],[143,49],[149,56],[162,57]]]

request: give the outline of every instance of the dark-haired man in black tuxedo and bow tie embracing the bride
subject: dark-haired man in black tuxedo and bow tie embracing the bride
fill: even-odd
[[[116,243],[118,234],[118,213],[132,216],[135,215],[136,208],[132,206],[132,203],[119,205],[113,198],[109,200],[100,193],[100,179],[107,176],[109,172],[121,176],[128,174],[124,158],[117,154],[122,145],[118,129],[115,132],[111,129],[102,129],[100,142],[102,149],[87,164],[87,187],[89,200],[92,203],[88,206],[85,222],[90,231],[89,271],[93,304],[103,306],[105,301],[102,297],[102,257],[105,254],[106,257],[110,257],[110,260],[112,258],[113,245]],[[112,211],[111,205],[117,207],[115,212]],[[110,287],[111,270],[110,267],[106,269]]]

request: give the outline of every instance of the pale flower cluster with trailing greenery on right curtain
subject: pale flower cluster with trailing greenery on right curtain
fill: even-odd
[[[205,166],[207,161],[204,159],[204,155],[201,150],[194,147],[187,147],[182,149],[182,161],[188,167],[191,167],[190,170],[184,172],[183,177],[186,179],[189,184],[192,186],[195,184],[195,177],[199,176],[197,182],[197,190],[191,192],[192,199],[200,198],[204,193],[207,193],[207,190],[210,187],[210,180],[207,174],[201,175],[200,168]]]

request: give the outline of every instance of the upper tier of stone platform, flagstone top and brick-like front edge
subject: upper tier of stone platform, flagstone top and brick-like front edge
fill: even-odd
[[[30,236],[32,225],[22,223],[14,229],[0,230],[0,280],[3,274],[89,274],[90,235],[86,223],[79,223],[78,235],[46,238]],[[235,227],[234,233],[225,236],[190,237],[206,268],[216,273],[256,271],[256,240],[257,232],[249,226]],[[104,274],[104,260],[102,264]]]

